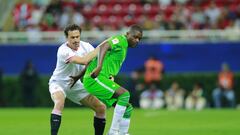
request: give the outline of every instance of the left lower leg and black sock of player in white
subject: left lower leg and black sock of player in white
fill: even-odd
[[[57,135],[58,129],[61,125],[61,116],[65,103],[65,95],[62,91],[56,91],[52,94],[52,100],[54,102],[54,108],[50,118],[51,135]]]

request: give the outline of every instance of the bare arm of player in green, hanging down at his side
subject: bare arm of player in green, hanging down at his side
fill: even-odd
[[[103,64],[103,60],[104,57],[107,53],[107,51],[109,49],[111,49],[111,46],[108,44],[108,41],[105,40],[104,42],[102,42],[100,45],[100,50],[99,50],[99,54],[98,54],[98,65],[97,67],[93,70],[93,72],[91,73],[91,77],[92,78],[96,78],[98,76],[98,74],[100,73],[100,71],[102,70],[102,64]]]

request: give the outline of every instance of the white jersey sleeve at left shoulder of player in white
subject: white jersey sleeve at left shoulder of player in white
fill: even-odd
[[[59,48],[59,50],[58,50],[58,59],[60,61],[63,61],[64,63],[68,63],[68,60],[75,55],[76,54],[73,53],[68,48]]]

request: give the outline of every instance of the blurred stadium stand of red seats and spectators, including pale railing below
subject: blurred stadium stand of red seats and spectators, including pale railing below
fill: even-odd
[[[126,30],[126,26],[133,23],[144,28],[144,40],[150,42],[238,41],[240,36],[240,0],[11,2],[8,10],[12,15],[0,22],[4,24],[0,25],[0,43],[61,42],[63,35],[60,31],[69,23],[81,25],[83,40],[96,42]]]

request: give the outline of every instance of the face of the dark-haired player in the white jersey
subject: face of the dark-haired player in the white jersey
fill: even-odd
[[[67,41],[71,49],[77,50],[80,42],[80,32],[78,30],[68,31]]]

